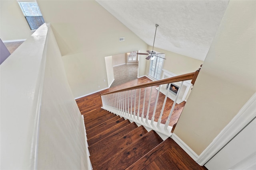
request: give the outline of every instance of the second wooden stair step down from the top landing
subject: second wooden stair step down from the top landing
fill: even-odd
[[[131,143],[148,133],[148,131],[143,127],[137,127],[136,129],[130,131],[124,136],[120,137],[118,140],[114,141],[112,144],[105,143],[102,148],[94,150],[90,156],[92,166],[96,166],[101,162],[107,160],[110,156],[120,152],[125,147],[128,147]]]

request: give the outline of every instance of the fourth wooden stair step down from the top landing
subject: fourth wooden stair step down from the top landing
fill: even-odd
[[[101,139],[104,139],[105,137],[108,137],[111,133],[114,133],[114,131],[116,131],[117,129],[120,129],[126,125],[130,124],[130,121],[128,119],[126,119],[125,121],[122,121],[120,123],[118,123],[117,125],[107,129],[106,131],[103,131],[102,133],[99,133],[98,135],[92,137],[91,139],[89,139],[88,145],[92,145],[94,143],[96,143],[97,141],[100,141]]]

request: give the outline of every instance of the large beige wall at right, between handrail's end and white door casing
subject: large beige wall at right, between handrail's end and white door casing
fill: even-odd
[[[174,130],[198,155],[256,92],[255,2],[229,2]]]

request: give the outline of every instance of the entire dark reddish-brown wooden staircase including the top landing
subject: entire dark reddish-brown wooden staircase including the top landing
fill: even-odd
[[[84,113],[84,123],[94,170],[206,169],[171,138],[104,109]]]

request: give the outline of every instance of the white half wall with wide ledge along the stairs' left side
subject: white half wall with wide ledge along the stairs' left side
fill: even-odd
[[[86,169],[84,122],[49,25],[0,69],[0,168]]]

